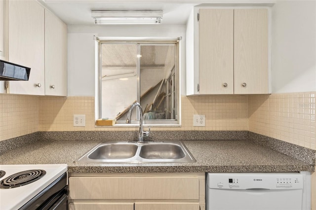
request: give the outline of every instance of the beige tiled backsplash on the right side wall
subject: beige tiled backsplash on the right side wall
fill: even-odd
[[[316,150],[316,92],[248,96],[249,131]]]

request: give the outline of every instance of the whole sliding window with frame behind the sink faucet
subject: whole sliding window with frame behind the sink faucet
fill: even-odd
[[[97,42],[98,118],[125,123],[138,102],[143,123],[179,125],[179,40]],[[138,114],[133,110],[132,123]]]

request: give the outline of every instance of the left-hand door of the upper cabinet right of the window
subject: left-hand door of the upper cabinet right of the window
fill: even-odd
[[[233,41],[233,9],[199,9],[199,94],[234,93]]]

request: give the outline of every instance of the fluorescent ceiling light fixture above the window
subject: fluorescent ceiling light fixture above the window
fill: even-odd
[[[95,24],[160,24],[162,10],[158,11],[91,11]]]

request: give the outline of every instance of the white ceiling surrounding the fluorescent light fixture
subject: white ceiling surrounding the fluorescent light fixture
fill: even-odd
[[[163,10],[161,24],[186,24],[193,6],[181,0],[40,0],[68,25],[94,25],[91,10]]]

